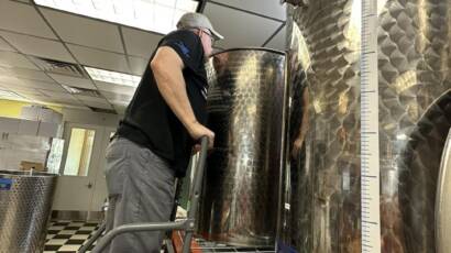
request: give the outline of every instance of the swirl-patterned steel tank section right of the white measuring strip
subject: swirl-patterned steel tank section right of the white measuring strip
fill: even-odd
[[[437,180],[451,127],[451,1],[384,1],[378,20],[382,250],[437,252]]]

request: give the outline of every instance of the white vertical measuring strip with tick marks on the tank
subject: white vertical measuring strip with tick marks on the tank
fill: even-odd
[[[377,81],[377,1],[362,0],[361,202],[364,253],[381,253]]]

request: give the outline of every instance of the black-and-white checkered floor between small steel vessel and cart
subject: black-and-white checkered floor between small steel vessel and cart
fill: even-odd
[[[52,221],[47,231],[44,253],[76,253],[99,226],[97,222]]]

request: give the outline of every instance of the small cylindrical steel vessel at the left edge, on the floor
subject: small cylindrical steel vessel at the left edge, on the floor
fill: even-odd
[[[0,170],[0,252],[44,251],[56,175]]]

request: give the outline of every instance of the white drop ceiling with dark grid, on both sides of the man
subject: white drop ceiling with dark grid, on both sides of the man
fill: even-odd
[[[286,12],[279,0],[212,0],[204,13],[226,36],[218,48],[285,50]],[[32,0],[0,0],[0,91],[6,91],[0,95],[9,94],[0,99],[123,113],[134,88],[52,73],[36,57],[141,76],[162,37]],[[65,86],[97,90],[98,96],[80,96]]]

